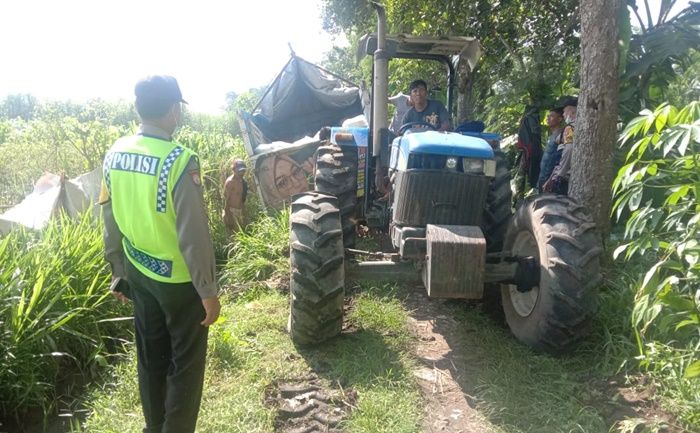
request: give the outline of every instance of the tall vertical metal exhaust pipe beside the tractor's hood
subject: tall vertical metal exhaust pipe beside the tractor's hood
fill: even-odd
[[[382,134],[389,127],[387,120],[389,55],[386,51],[386,11],[384,6],[372,2],[377,11],[377,50],[374,52],[374,88],[372,89],[372,156],[381,152]]]

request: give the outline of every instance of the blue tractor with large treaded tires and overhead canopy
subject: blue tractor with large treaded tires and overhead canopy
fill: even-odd
[[[431,298],[500,299],[513,334],[550,353],[571,348],[596,309],[601,247],[572,199],[539,195],[513,212],[495,134],[387,128],[392,58],[479,56],[471,38],[386,36],[361,41],[374,56],[369,128],[331,128],[316,152],[314,191],[293,197],[289,331],[300,345],[341,332],[346,280],[421,281]],[[419,125],[423,126],[423,125]],[[386,182],[388,185],[380,185]],[[389,191],[389,193],[386,192]],[[354,248],[358,224],[388,234],[390,251]]]

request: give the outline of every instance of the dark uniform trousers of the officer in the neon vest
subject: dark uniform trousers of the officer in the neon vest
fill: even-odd
[[[207,352],[202,301],[191,282],[155,281],[125,262],[134,304],[143,431],[193,433]]]

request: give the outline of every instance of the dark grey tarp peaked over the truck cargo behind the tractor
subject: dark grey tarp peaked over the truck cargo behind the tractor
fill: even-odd
[[[362,114],[360,89],[306,60],[292,56],[258,102],[244,113],[253,153],[263,143],[294,142],[324,126]]]

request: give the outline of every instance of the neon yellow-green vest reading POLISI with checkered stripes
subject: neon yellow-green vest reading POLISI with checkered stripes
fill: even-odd
[[[105,156],[103,176],[126,257],[156,281],[191,281],[177,239],[173,190],[194,152],[141,135],[118,140]]]

